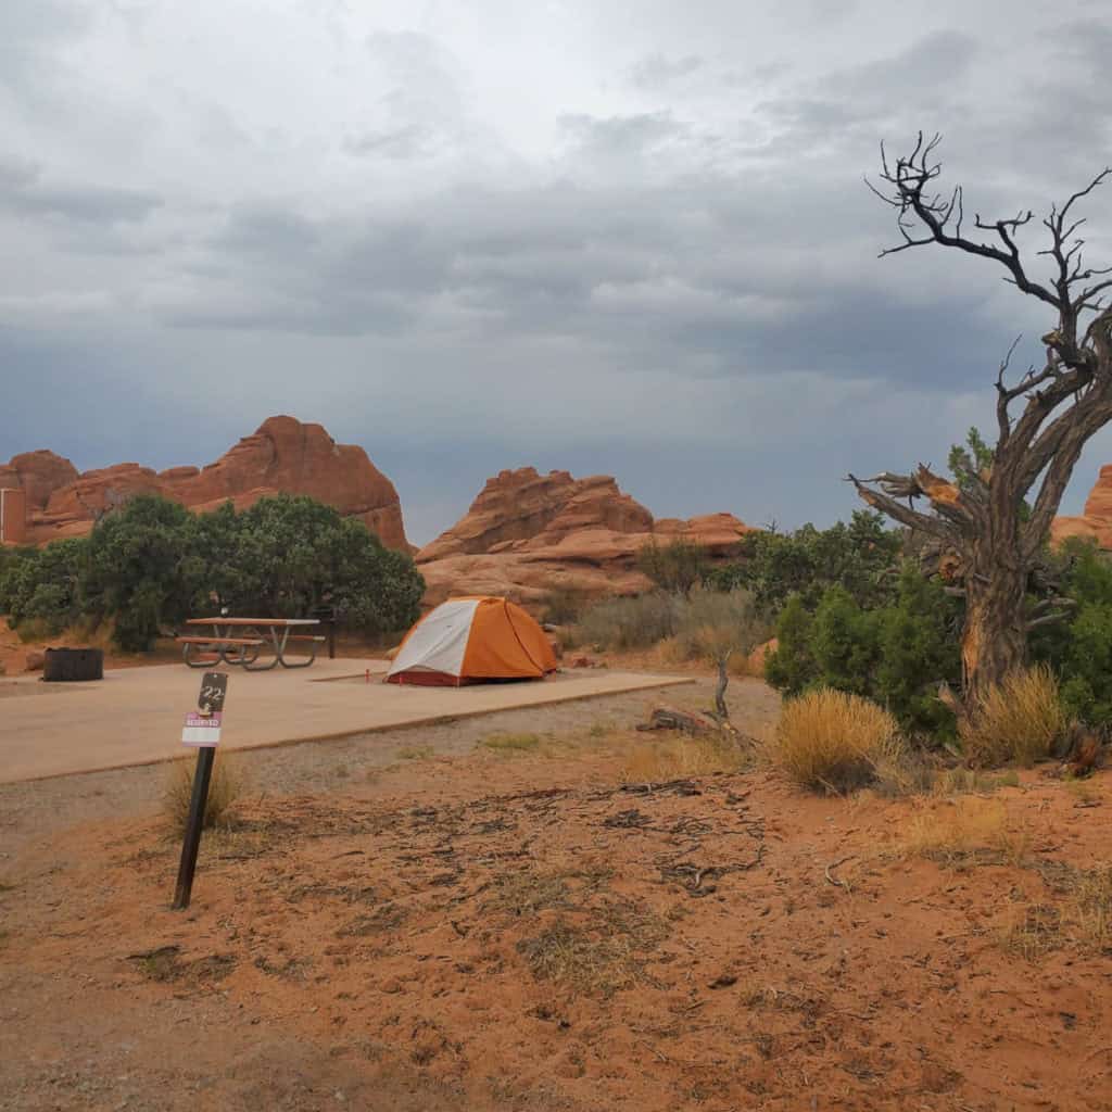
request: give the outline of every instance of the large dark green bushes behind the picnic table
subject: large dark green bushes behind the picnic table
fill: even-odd
[[[155,495],[129,499],[87,539],[4,553],[0,609],[20,632],[53,635],[108,622],[120,648],[145,652],[198,609],[304,617],[330,605],[370,634],[407,628],[425,580],[413,558],[385,548],[359,520],[307,497],[228,503],[190,514]]]

